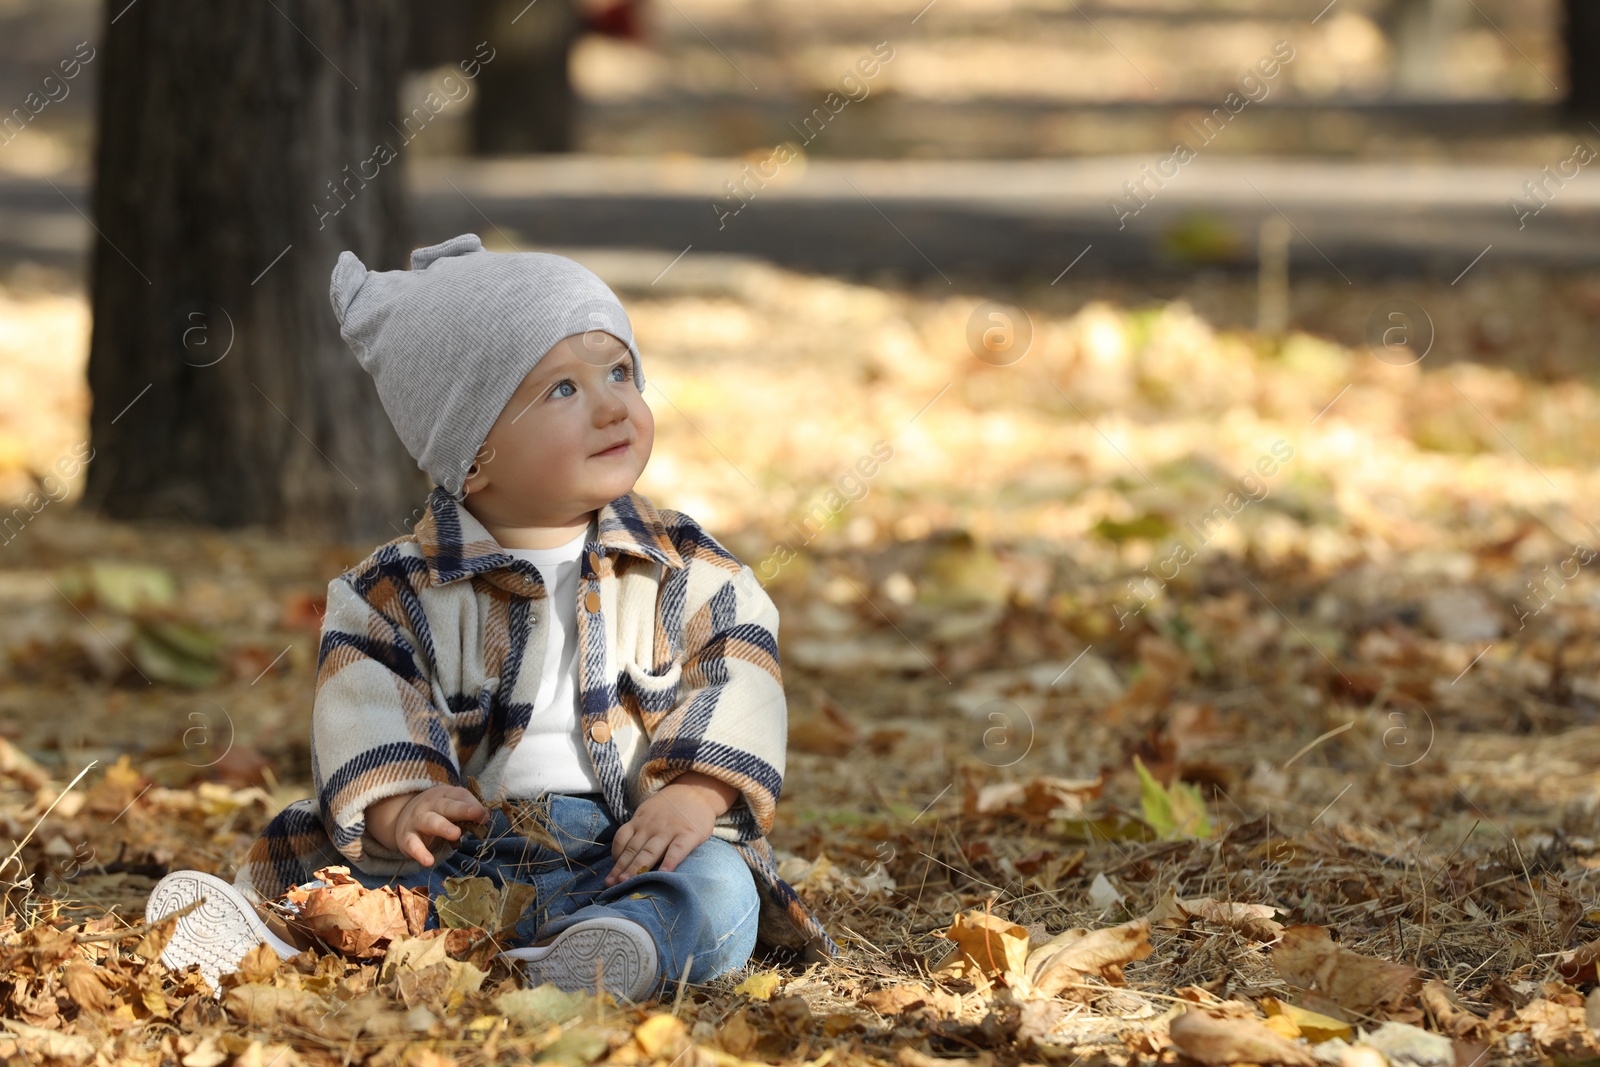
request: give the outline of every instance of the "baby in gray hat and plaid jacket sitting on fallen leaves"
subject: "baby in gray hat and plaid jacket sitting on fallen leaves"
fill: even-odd
[[[693,518],[634,491],[654,422],[611,290],[462,234],[411,270],[346,251],[330,296],[435,488],[413,534],[328,584],[317,797],[267,824],[232,886],[157,885],[150,920],[206,897],[162,960],[216,984],[262,941],[293,955],[254,905],[330,864],[432,897],[453,875],[531,885],[504,955],[534,984],[594,992],[598,961],[638,1001],[757,941],[835,955],[766,840],[778,611]]]

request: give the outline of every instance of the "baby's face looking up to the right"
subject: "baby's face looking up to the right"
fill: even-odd
[[[654,438],[627,346],[600,330],[565,338],[490,429],[466,507],[491,531],[573,523],[634,488]]]

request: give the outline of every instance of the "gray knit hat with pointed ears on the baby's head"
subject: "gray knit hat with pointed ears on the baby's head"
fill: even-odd
[[[418,248],[410,270],[368,270],[342,251],[328,296],[339,336],[378,382],[400,440],[458,501],[494,419],[557,341],[614,334],[645,392],[627,312],[565,256],[485,251],[477,234]]]

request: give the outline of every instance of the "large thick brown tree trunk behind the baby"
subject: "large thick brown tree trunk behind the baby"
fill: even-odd
[[[411,248],[403,160],[376,154],[403,152],[403,0],[109,0],[106,18],[85,504],[406,533],[427,480],[328,302],[341,250],[392,270]]]

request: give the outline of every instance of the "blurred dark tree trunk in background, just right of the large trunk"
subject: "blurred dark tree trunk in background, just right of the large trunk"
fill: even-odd
[[[494,42],[478,78],[472,146],[478,155],[571,152],[573,82],[568,54],[582,34],[576,0],[478,0],[474,40]]]

